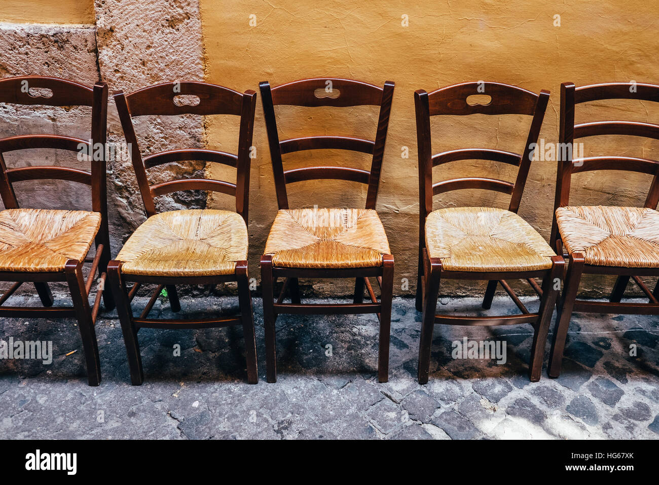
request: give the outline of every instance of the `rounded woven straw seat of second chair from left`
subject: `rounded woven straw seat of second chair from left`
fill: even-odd
[[[190,209],[148,218],[119,251],[122,273],[144,276],[232,275],[247,259],[247,228],[228,210]]]

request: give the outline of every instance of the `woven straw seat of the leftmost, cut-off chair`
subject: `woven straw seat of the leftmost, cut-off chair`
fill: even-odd
[[[81,262],[101,226],[86,210],[6,209],[0,212],[0,271],[64,271]]]

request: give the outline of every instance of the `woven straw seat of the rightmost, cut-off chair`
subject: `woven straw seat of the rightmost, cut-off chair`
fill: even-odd
[[[659,212],[645,207],[575,206],[556,209],[561,240],[587,265],[659,267]]]

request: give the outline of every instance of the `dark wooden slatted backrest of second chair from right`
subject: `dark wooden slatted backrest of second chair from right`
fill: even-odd
[[[488,104],[469,104],[469,96],[486,94]],[[524,185],[538,141],[542,119],[549,100],[549,91],[540,94],[517,86],[499,82],[465,82],[440,88],[433,92],[422,89],[415,92],[416,143],[418,145],[419,207],[420,220],[432,212],[432,197],[458,189],[487,189],[511,195],[509,210],[517,212],[522,199]],[[530,115],[526,145],[521,153],[506,152],[490,148],[463,148],[432,154],[430,143],[430,117],[435,115],[486,115],[521,114]],[[432,168],[457,160],[493,160],[519,167],[515,183],[494,178],[457,178],[432,183]]]

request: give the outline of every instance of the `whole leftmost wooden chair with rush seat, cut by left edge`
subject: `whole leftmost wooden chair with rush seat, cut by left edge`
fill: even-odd
[[[34,88],[50,90],[51,94],[35,94]],[[101,370],[94,324],[101,304],[114,308],[110,292],[103,292],[105,271],[110,260],[105,192],[105,123],[107,115],[107,85],[93,88],[55,77],[25,76],[0,80],[0,102],[44,106],[91,106],[91,139],[83,140],[62,135],[20,135],[0,139],[0,195],[5,210],[0,212],[0,280],[15,281],[0,298],[0,316],[12,318],[76,317],[82,337],[89,385],[99,385]],[[7,168],[3,153],[29,148],[54,148],[94,154],[96,144],[103,155],[92,160],[91,172],[59,166],[26,166]],[[98,160],[100,158],[100,160]],[[60,179],[91,186],[92,211],[20,209],[14,193],[14,183]],[[96,255],[88,257],[92,243]],[[85,281],[84,263],[92,263]],[[98,291],[94,305],[89,295],[98,271]],[[53,307],[49,282],[67,282],[73,307]],[[43,307],[7,307],[3,304],[24,282],[34,282]],[[97,286],[95,286],[97,288]]]

